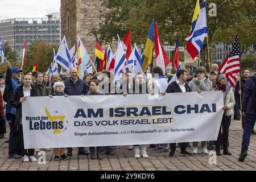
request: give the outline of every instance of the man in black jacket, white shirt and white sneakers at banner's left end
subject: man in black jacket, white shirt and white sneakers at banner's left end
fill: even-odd
[[[39,96],[34,85],[31,85],[32,78],[30,75],[24,76],[24,84],[20,85],[11,100],[11,106],[16,108],[15,127],[18,127],[19,142],[21,148],[21,156],[23,162],[36,162],[38,161],[34,156],[35,149],[24,149],[23,129],[22,129],[22,102],[26,101],[27,97]]]

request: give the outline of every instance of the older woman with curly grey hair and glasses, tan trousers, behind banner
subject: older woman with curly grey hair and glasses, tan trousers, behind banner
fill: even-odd
[[[68,95],[64,93],[64,89],[65,89],[65,84],[63,82],[55,82],[53,84],[53,94],[49,95],[49,97],[53,97],[53,96],[64,96],[67,97]],[[54,160],[68,160],[68,156],[65,155],[65,148],[53,148],[53,153],[54,153]]]

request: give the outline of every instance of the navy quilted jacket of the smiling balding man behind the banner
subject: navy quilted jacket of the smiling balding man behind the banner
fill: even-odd
[[[81,96],[88,92],[86,83],[80,78],[78,78],[76,84],[74,84],[71,78],[68,78],[68,80],[64,81],[64,84],[64,92],[69,96]]]

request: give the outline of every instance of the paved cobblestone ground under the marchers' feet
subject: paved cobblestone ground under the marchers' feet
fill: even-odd
[[[8,139],[9,133],[5,134],[4,139],[0,139],[0,170],[18,170],[18,171],[45,171],[45,170],[61,170],[61,171],[77,171],[77,170],[255,170],[256,169],[256,136],[251,135],[251,142],[248,151],[248,156],[245,162],[238,162],[240,155],[242,130],[240,121],[233,121],[230,126],[230,147],[232,152],[231,156],[217,156],[217,165],[209,164],[209,155],[193,155],[193,156],[180,156],[180,148],[176,150],[175,158],[170,158],[168,152],[158,153],[147,148],[148,159],[135,159],[133,157],[133,151],[128,150],[128,146],[118,146],[115,150],[114,156],[103,156],[103,160],[90,160],[89,156],[77,155],[77,149],[74,148],[73,156],[67,161],[53,160],[53,150],[46,152],[46,164],[36,163],[23,163],[22,159],[9,159],[8,158],[8,143],[5,140]],[[89,150],[86,148],[86,150]],[[192,148],[188,148],[188,151],[192,152]],[[199,148],[201,151],[201,147]],[[36,155],[39,158],[39,155]]]

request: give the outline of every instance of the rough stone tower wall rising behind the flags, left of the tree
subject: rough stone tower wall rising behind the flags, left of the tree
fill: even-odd
[[[96,37],[88,34],[92,28],[99,28],[100,23],[104,21],[103,15],[107,10],[101,6],[103,2],[104,0],[61,0],[61,38],[66,35],[68,46],[71,48],[71,44],[76,44],[78,35],[92,60]]]

